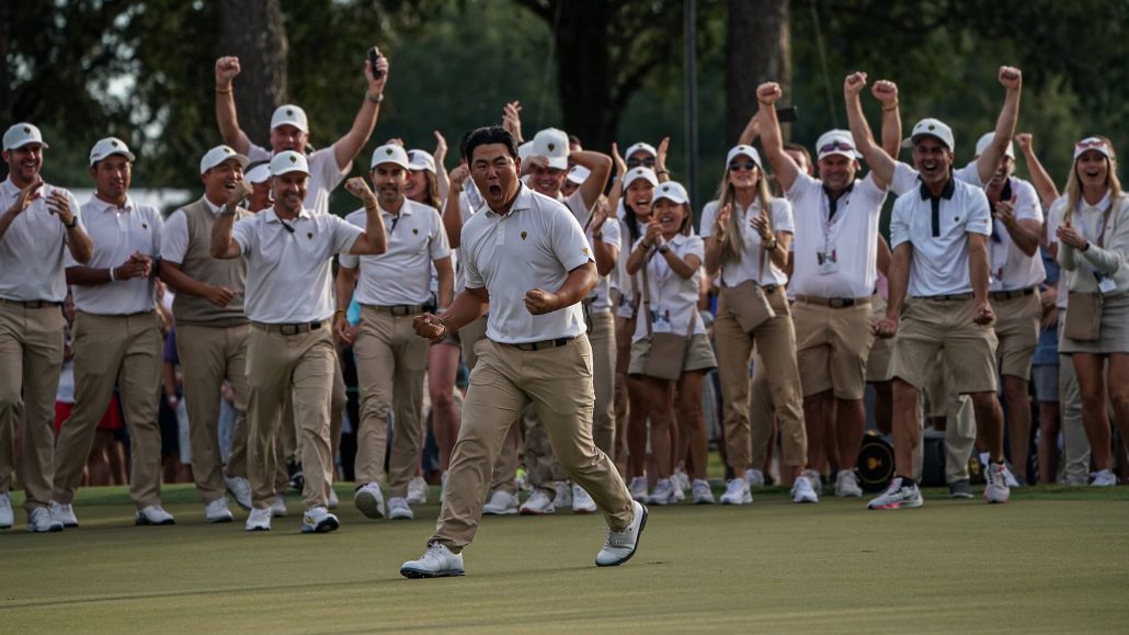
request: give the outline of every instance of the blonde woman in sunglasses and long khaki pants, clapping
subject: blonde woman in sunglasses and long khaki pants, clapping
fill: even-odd
[[[726,487],[721,504],[753,502],[749,476],[760,468],[751,462],[749,419],[749,362],[754,343],[768,371],[780,426],[780,471],[786,481],[788,477],[795,479],[793,501],[819,501],[812,482],[800,478],[807,462],[807,434],[796,364],[796,331],[785,296],[788,277],[784,272],[793,230],[791,205],[769,193],[760,154],[750,146],[735,146],[726,157],[718,200],[706,206],[701,220],[706,271],[710,276],[721,272],[714,340],[721,380],[726,460],[736,475]],[[772,316],[746,329],[755,321],[750,315],[755,314],[751,307],[758,302],[761,307],[767,303]],[[756,425],[771,423],[756,421]],[[786,471],[790,473],[784,475]]]

